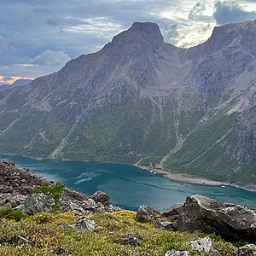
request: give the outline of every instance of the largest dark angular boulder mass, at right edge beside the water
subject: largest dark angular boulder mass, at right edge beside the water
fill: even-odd
[[[188,195],[162,214],[177,219],[177,230],[216,233],[228,241],[256,241],[256,214],[247,207]]]

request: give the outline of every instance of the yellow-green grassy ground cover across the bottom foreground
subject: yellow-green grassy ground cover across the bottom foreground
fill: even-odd
[[[154,228],[155,220],[141,224],[135,220],[136,212],[122,211],[113,213],[95,213],[88,216],[93,218],[96,225],[95,233],[78,232],[64,228],[63,224],[74,224],[75,217],[71,212],[38,213],[15,222],[2,218],[0,222],[0,254],[1,255],[164,255],[167,250],[189,250],[184,242],[191,241],[206,234],[190,234],[173,232]],[[62,226],[61,226],[62,224]],[[142,237],[140,246],[124,245],[120,236],[137,234]],[[15,236],[23,236],[35,242],[35,247],[15,245]],[[236,247],[229,242],[212,235],[213,247],[222,255],[233,255]]]

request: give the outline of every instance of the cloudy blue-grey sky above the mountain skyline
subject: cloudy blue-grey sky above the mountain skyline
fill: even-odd
[[[256,19],[256,0],[1,0],[0,9],[0,85],[54,73],[135,21],[156,22],[167,43],[189,48],[214,26]]]

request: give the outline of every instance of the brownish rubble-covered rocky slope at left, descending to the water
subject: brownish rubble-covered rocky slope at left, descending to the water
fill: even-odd
[[[19,207],[23,212],[34,214],[37,212],[52,212],[51,204],[44,195],[30,195],[29,189],[42,183],[49,182],[28,170],[15,167],[14,162],[0,160],[0,206]],[[121,208],[110,203],[108,194],[97,191],[89,196],[64,189],[61,195],[61,210],[86,215],[94,212],[117,212]]]

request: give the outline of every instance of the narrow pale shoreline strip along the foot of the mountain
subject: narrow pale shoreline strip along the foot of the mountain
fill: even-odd
[[[53,158],[39,158],[39,157],[30,157],[30,156],[24,156],[24,155],[18,155],[18,154],[3,154],[3,155],[9,155],[9,156],[22,156],[22,157],[27,157],[31,158],[34,160],[61,160],[61,161],[83,161],[83,162],[96,162],[96,163],[102,163],[102,164],[118,164],[118,165],[124,165],[124,166],[135,166],[138,169],[141,170],[148,170],[150,167],[149,166],[138,166],[137,164],[121,164],[121,163],[113,163],[113,162],[108,162],[108,161],[93,161],[93,160],[71,160],[71,159],[53,159]],[[152,167],[151,167],[152,168]],[[244,189],[249,192],[256,193],[256,185],[253,187],[246,187],[243,185],[238,185],[236,183],[229,183],[229,182],[220,182],[220,181],[214,181],[214,180],[209,180],[203,177],[193,177],[190,176],[189,174],[184,174],[184,173],[179,173],[179,174],[174,174],[172,172],[167,172],[164,170],[152,168],[154,172],[157,174],[162,175],[162,177],[176,183],[187,183],[191,185],[197,185],[197,186],[208,186],[208,187],[233,187],[236,189]]]

